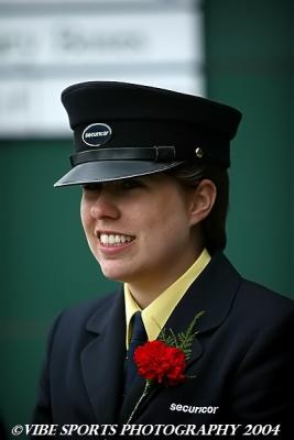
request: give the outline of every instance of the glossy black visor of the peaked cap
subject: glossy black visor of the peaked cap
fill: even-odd
[[[146,161],[86,162],[72,168],[54,186],[84,185],[99,182],[121,180],[165,172],[183,162],[155,163]]]

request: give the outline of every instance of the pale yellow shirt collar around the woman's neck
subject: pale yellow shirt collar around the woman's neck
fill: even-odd
[[[196,262],[170,287],[167,287],[154,301],[142,310],[142,320],[148,333],[149,341],[157,338],[165,322],[172,315],[178,301],[183,298],[192,283],[200,275],[203,270],[210,261],[210,255],[206,249],[203,250]],[[130,340],[130,322],[132,316],[141,309],[133,299],[128,284],[124,284],[124,305],[127,319],[127,349]]]

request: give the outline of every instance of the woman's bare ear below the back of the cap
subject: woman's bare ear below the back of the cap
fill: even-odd
[[[217,188],[213,180],[203,179],[193,191],[190,200],[190,224],[203,221],[211,211],[217,197]]]

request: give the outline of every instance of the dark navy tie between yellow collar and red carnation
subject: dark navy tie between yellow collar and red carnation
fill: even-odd
[[[146,331],[142,321],[141,311],[137,311],[132,317],[132,338],[126,358],[124,366],[124,395],[128,393],[135,375],[137,365],[133,361],[133,354],[139,345],[143,345],[148,340]]]

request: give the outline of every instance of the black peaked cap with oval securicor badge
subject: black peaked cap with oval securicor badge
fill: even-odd
[[[127,82],[76,84],[62,102],[75,152],[72,169],[55,186],[149,175],[195,158],[228,167],[241,119],[216,101]]]

